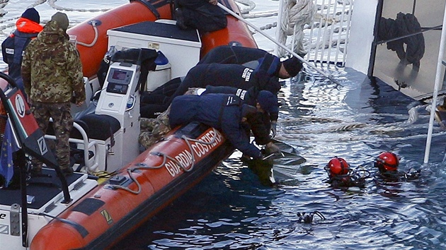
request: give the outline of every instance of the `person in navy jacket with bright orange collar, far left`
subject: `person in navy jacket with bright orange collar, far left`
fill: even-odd
[[[16,81],[18,88],[25,94],[21,76],[23,51],[28,43],[37,37],[43,27],[40,15],[35,8],[28,8],[16,21],[16,30],[1,43],[3,61],[8,64],[8,75]],[[26,97],[26,96],[25,96]]]

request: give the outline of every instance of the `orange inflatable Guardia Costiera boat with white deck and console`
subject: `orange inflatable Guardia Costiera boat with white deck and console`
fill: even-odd
[[[109,49],[108,30],[140,22],[171,19],[172,8],[169,2],[130,1],[69,29],[69,35],[76,36],[84,76],[96,78],[103,56]],[[225,0],[223,4],[238,12],[233,1]],[[213,47],[234,42],[245,47],[256,47],[256,42],[246,24],[229,14],[227,18],[227,28],[200,37],[201,56]],[[128,71],[130,70],[126,72]],[[2,81],[11,81],[3,76],[1,78]],[[109,165],[114,161],[108,158],[113,157],[113,150],[115,153],[118,151],[125,153],[133,147],[125,143],[120,146],[118,142],[125,141],[131,136],[129,131],[133,128],[137,127],[139,131],[139,108],[131,106],[132,102],[129,105],[131,100],[135,104],[137,97],[135,93],[129,93],[127,90],[122,92],[122,86],[123,84],[117,84],[107,89],[110,98],[114,98],[113,102],[119,99],[118,95],[123,96],[121,99],[125,115],[111,119],[105,114],[98,113],[101,105],[105,107],[104,109],[113,109],[121,105],[113,106],[110,104],[112,102],[105,103],[105,101],[102,104],[100,100],[96,108],[98,114],[94,114],[89,120],[84,120],[89,130],[85,129],[86,132],[81,133],[81,139],[73,139],[75,143],[86,141],[84,148],[90,146],[105,148],[104,154],[107,156],[103,158],[108,159]],[[104,94],[101,94],[101,98],[102,95]],[[32,116],[28,112],[27,105],[19,107],[20,105],[13,101],[21,98],[23,97],[16,88],[8,90],[2,96],[4,103],[11,104],[8,108],[10,116],[15,114],[17,117],[19,113]],[[23,112],[18,112],[19,109],[23,109]],[[100,138],[101,136],[91,132],[95,127],[96,131],[110,130],[115,133],[111,138]],[[8,197],[15,196],[27,199],[26,202],[11,200],[0,204],[0,228],[6,226],[8,228],[4,231],[8,234],[2,234],[5,236],[4,240],[1,240],[2,248],[29,247],[33,250],[55,250],[110,247],[197,184],[233,152],[234,148],[219,131],[203,124],[191,123],[173,129],[163,141],[159,141],[130,162],[126,162],[115,170],[113,177],[101,184],[91,179],[88,174],[75,173],[67,178],[68,187],[63,192],[59,181],[52,181],[52,185],[47,187],[33,186],[33,183],[30,183],[26,187],[28,191],[26,195],[23,195],[23,191],[20,193],[16,190],[0,189],[2,202]],[[87,157],[91,157],[88,156],[88,152]],[[57,176],[57,172],[53,169],[45,169],[44,173],[47,179],[55,179]],[[52,196],[45,199],[44,194]],[[21,214],[20,208],[28,210],[28,214],[26,216]],[[14,220],[20,215],[21,220]],[[3,225],[5,227],[2,227]],[[7,242],[6,245],[4,242]]]

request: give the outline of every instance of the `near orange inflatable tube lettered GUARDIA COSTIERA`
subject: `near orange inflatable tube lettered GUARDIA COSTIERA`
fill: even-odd
[[[200,135],[193,135],[197,133]],[[191,142],[189,147],[180,138],[183,135],[210,144]],[[135,192],[139,190],[139,194],[114,188],[113,178],[110,179],[58,216],[70,223],[53,220],[43,227],[30,249],[103,249],[110,246],[113,244],[110,239],[120,239],[151,218],[232,152],[233,148],[218,131],[202,124],[188,124],[172,131],[165,141],[139,155],[113,177],[125,179],[121,185]],[[160,153],[176,162],[167,160],[163,164],[164,157]]]

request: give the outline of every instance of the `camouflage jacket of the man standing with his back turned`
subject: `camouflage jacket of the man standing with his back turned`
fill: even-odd
[[[22,61],[25,92],[36,102],[85,100],[79,52],[62,28],[50,21],[25,49]]]

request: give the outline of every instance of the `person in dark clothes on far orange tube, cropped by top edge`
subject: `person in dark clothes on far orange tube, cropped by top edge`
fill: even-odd
[[[176,25],[182,30],[197,29],[200,34],[221,30],[227,26],[223,10],[217,6],[218,0],[178,0],[175,10]]]

